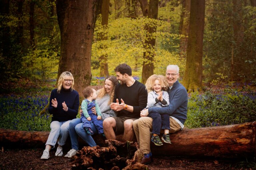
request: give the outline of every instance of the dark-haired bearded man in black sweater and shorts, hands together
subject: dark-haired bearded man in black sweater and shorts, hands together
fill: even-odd
[[[140,118],[140,111],[147,106],[146,87],[132,77],[132,69],[123,63],[115,68],[116,85],[114,101],[110,107],[117,112],[117,117],[109,117],[103,121],[107,139],[116,139],[116,134],[124,133],[124,139],[132,141],[134,132],[132,123]]]

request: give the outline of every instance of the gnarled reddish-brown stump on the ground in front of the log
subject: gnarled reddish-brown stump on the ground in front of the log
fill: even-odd
[[[140,163],[142,156],[137,142],[106,140],[104,147],[83,147],[71,162],[72,169],[145,170],[148,167]]]

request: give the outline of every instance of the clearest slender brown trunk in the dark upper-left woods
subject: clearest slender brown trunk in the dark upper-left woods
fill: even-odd
[[[34,22],[35,2],[30,0],[29,4],[29,31],[30,31],[30,45],[35,49],[35,22]]]

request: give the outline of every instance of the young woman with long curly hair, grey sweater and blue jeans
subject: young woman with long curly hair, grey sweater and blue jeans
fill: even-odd
[[[115,117],[116,113],[110,108],[110,103],[114,99],[115,87],[118,84],[118,80],[115,76],[107,76],[105,78],[104,87],[97,91],[98,97],[96,101],[101,110],[102,120],[107,117]],[[92,108],[92,112],[96,114],[95,107]],[[82,110],[80,110],[80,116],[82,115]],[[91,123],[91,130],[93,134],[98,134],[97,128]],[[96,143],[91,135],[87,134],[83,128],[83,123],[81,119],[73,119],[69,124],[69,135],[71,139],[72,149],[65,155],[65,157],[72,157],[78,151],[78,136],[82,138],[89,146],[96,146]]]

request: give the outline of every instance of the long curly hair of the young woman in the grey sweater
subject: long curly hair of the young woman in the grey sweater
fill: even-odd
[[[115,76],[107,76],[105,78],[105,81],[106,80],[110,80],[113,84],[113,88],[112,90],[109,92],[109,96],[110,96],[110,100],[108,101],[108,104],[110,105],[114,99],[114,92],[115,92],[115,87],[116,85],[119,83],[118,80],[116,79]],[[98,91],[98,98],[101,99],[103,96],[105,96],[107,94],[107,90],[105,87],[102,87],[99,91]]]

